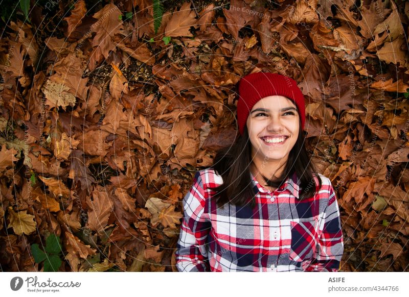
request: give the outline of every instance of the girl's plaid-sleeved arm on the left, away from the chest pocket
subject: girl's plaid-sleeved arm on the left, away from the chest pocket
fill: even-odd
[[[183,200],[184,218],[176,245],[176,267],[179,271],[210,271],[206,239],[211,228],[204,212],[206,193],[200,172]]]

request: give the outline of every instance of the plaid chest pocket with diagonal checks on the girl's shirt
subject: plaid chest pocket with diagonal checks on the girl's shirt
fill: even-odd
[[[312,257],[318,240],[318,218],[291,221],[290,260],[302,262]]]

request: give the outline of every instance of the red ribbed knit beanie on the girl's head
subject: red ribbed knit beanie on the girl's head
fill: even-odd
[[[304,95],[293,79],[278,73],[256,72],[246,75],[239,83],[237,102],[237,122],[240,134],[244,133],[247,117],[253,106],[267,96],[284,96],[296,104],[304,130],[305,102]]]

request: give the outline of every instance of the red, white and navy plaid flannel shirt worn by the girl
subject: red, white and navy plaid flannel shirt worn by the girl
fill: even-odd
[[[221,184],[221,176],[212,168],[197,171],[183,200],[177,269],[338,271],[344,251],[338,204],[331,181],[318,176],[319,191],[300,201],[295,173],[274,192],[252,175],[256,207],[220,208],[209,198],[214,191],[208,187]]]

